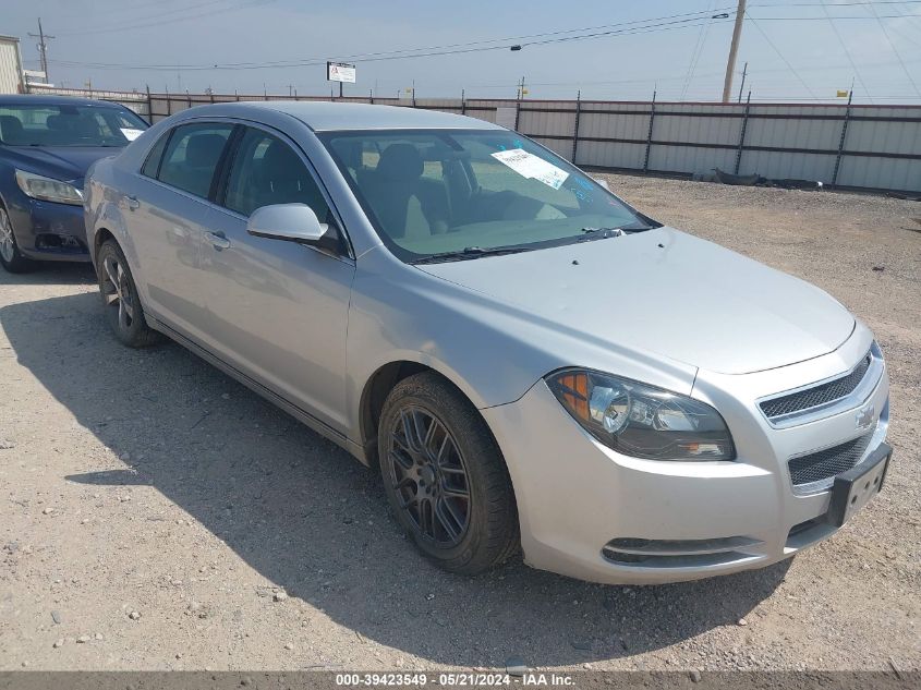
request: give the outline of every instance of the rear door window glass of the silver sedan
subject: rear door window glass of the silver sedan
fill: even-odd
[[[183,124],[173,131],[160,164],[160,182],[208,197],[232,124]]]

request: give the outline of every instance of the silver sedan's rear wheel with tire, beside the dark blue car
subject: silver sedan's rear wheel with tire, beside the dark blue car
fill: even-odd
[[[116,338],[130,348],[146,348],[162,340],[147,326],[131,268],[118,242],[106,240],[96,257],[99,293]]]

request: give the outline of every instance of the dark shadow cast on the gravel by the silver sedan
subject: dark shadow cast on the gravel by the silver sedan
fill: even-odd
[[[654,588],[520,560],[451,576],[402,537],[374,471],[179,346],[123,348],[95,293],[5,306],[0,324],[19,362],[128,465],[68,480],[154,486],[290,596],[435,663],[554,666],[661,649],[735,625],[789,567]]]

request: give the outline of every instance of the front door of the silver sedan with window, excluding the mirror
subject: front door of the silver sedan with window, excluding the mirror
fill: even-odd
[[[245,128],[226,193],[202,245],[208,347],[322,422],[347,428],[346,328],[354,262],[334,251],[246,232],[260,206],[329,205],[303,154],[280,134]],[[215,235],[218,235],[217,238]]]

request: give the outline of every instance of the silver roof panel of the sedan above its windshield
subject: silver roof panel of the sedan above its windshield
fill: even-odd
[[[197,114],[211,110],[215,114],[258,118],[264,110],[283,112],[296,118],[315,132],[341,130],[458,129],[499,130],[496,124],[450,112],[438,112],[403,106],[373,106],[319,100],[253,100],[195,108]]]

